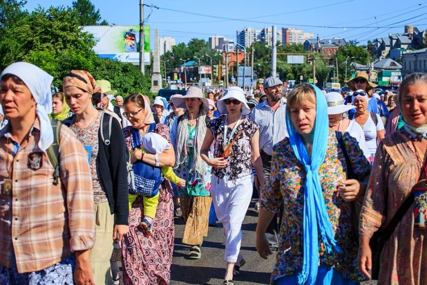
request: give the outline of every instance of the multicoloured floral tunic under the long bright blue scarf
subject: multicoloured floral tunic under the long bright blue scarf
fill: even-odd
[[[350,134],[343,133],[343,140],[354,174],[359,180],[370,174],[370,164],[359,144]],[[279,237],[276,266],[272,280],[292,275],[303,266],[303,208],[305,167],[298,161],[289,138],[274,145],[272,172],[261,192],[260,206],[267,211],[277,212],[284,203],[283,222]],[[346,179],[347,165],[343,151],[336,140],[335,131],[330,129],[325,160],[319,168],[326,210],[330,216],[335,239],[341,252],[325,251],[319,234],[319,259],[321,265],[334,266],[343,279],[363,281],[357,267],[357,239],[352,226],[352,203],[344,201],[337,192],[337,185]]]

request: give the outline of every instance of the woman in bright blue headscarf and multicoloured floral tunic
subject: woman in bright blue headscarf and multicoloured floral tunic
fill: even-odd
[[[265,229],[284,203],[274,284],[363,281],[350,202],[364,194],[360,181],[369,175],[370,164],[350,134],[342,135],[345,150],[339,147],[328,127],[325,95],[316,86],[297,86],[286,111],[290,137],[274,145],[272,173],[261,192],[256,250],[265,259],[272,254]],[[346,178],[350,167],[357,180]]]

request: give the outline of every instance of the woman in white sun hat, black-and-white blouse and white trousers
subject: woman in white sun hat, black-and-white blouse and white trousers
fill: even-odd
[[[240,254],[241,227],[252,198],[252,164],[260,186],[264,187],[263,165],[258,140],[259,127],[246,118],[251,112],[247,106],[245,92],[233,86],[217,102],[219,118],[207,125],[205,140],[200,156],[207,165],[214,167],[211,196],[218,220],[224,227],[225,272],[224,284],[233,284],[233,275],[239,274],[245,259]],[[214,142],[214,157],[208,151]]]

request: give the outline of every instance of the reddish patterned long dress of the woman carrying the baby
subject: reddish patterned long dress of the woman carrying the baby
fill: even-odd
[[[153,124],[154,126],[154,124]],[[129,129],[130,128],[130,129]],[[132,145],[132,127],[124,129],[126,144]],[[151,131],[153,127],[149,127]],[[149,132],[147,131],[147,132]],[[155,125],[153,132],[169,138],[169,127]],[[142,196],[138,196],[129,212],[129,233],[122,241],[122,268],[124,284],[166,285],[171,282],[171,264],[175,228],[173,224],[172,187],[165,181],[159,187],[159,204],[156,210],[151,237],[145,237],[137,227],[144,213]]]

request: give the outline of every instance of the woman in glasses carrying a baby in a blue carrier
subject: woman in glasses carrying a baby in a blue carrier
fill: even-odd
[[[129,150],[132,150],[131,162],[140,160],[149,165],[165,167],[175,163],[173,147],[161,154],[148,154],[140,151],[141,138],[154,132],[167,139],[169,128],[156,124],[150,110],[150,101],[144,95],[131,94],[124,100],[123,115],[132,126],[123,129]],[[139,144],[138,144],[139,142]],[[138,228],[144,217],[144,201],[138,196],[129,212],[129,233],[122,241],[122,267],[124,284],[169,284],[171,282],[171,263],[173,254],[173,203],[172,188],[169,181],[159,187],[159,203],[152,226],[153,235],[146,237]]]

